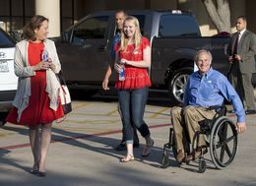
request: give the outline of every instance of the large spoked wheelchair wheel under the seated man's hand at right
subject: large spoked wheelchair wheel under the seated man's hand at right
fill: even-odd
[[[237,151],[237,132],[235,125],[226,116],[213,124],[210,136],[210,155],[217,168],[230,164]]]

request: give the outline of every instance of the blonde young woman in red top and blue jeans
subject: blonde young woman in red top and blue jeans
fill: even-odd
[[[151,86],[148,74],[151,66],[151,46],[149,40],[141,35],[137,18],[129,16],[124,20],[121,39],[115,51],[115,70],[120,73],[124,68],[125,71],[124,80],[117,78],[115,88],[118,91],[127,149],[127,155],[121,158],[121,162],[128,162],[134,159],[132,123],[146,139],[142,155],[150,155],[154,145],[149,127],[143,120],[148,88]]]

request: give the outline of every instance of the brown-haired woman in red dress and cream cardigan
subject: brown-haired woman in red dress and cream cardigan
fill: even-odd
[[[19,77],[14,107],[7,121],[29,126],[32,174],[45,176],[45,158],[51,140],[52,122],[63,117],[56,78],[60,62],[55,44],[46,38],[48,19],[34,16],[24,28],[24,40],[16,44],[15,74]],[[42,51],[47,58],[42,60]]]

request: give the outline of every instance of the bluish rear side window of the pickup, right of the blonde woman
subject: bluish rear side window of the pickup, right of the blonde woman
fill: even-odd
[[[159,36],[199,36],[195,19],[186,15],[163,15],[160,17]]]

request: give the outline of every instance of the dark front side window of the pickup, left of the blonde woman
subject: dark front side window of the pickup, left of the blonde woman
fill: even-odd
[[[80,23],[74,28],[73,42],[88,38],[104,38],[108,17],[95,17]]]

